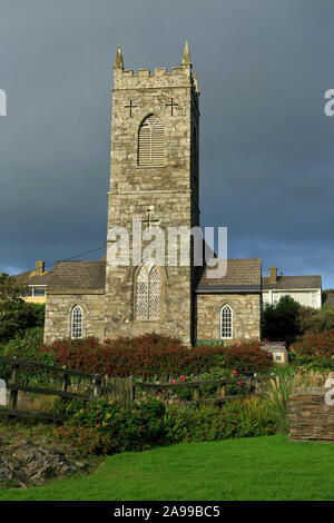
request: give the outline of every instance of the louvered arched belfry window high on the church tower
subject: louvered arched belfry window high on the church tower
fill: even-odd
[[[158,117],[149,115],[141,122],[138,134],[138,166],[164,165],[164,126]]]

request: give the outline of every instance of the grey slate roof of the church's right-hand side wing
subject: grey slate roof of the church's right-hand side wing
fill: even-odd
[[[210,268],[204,269],[197,293],[261,293],[261,258],[227,259],[227,272],[222,278],[209,277],[210,272]]]

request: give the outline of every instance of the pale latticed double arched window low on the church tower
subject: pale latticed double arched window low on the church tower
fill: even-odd
[[[156,266],[143,265],[136,279],[137,319],[160,318],[161,278]]]

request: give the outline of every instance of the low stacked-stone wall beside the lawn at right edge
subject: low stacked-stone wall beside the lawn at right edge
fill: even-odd
[[[325,403],[324,387],[293,388],[288,401],[292,441],[334,442],[334,405]]]

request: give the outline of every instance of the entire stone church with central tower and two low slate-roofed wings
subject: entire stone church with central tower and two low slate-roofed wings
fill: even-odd
[[[129,266],[111,263],[109,231],[117,226],[131,231],[134,218],[144,229],[199,227],[198,98],[187,43],[179,67],[154,73],[125,69],[118,48],[107,255],[56,262],[47,287],[47,343],[151,332],[188,345],[261,337],[261,259],[228,259],[222,278],[194,266],[191,244],[187,266],[160,266],[154,258]]]

